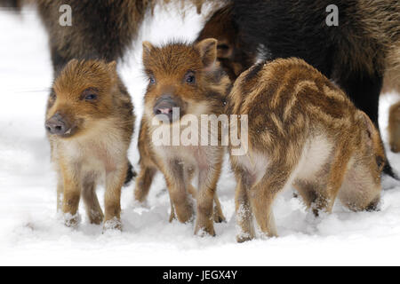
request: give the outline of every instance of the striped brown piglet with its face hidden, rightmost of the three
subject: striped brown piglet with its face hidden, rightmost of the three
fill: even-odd
[[[337,197],[352,210],[376,209],[386,161],[379,131],[305,61],[276,59],[244,72],[228,112],[248,115],[248,152],[230,156],[237,241],[254,238],[252,217],[262,233],[277,235],[272,205],[291,185],[316,215],[331,212]]]

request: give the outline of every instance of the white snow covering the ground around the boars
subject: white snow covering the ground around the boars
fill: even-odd
[[[156,12],[140,40],[192,40],[200,22],[195,12],[188,12],[186,20]],[[137,44],[120,70],[138,117],[145,89],[140,54]],[[400,185],[393,180],[385,180],[376,213],[352,213],[337,204],[332,215],[316,219],[285,193],[275,206],[280,237],[272,240],[236,243],[235,182],[228,167],[219,185],[228,223],[216,225],[215,238],[195,237],[193,225],[168,223],[169,198],[160,176],[147,206],[134,204],[133,185],[124,189],[123,233],[102,234],[100,226],[88,224],[84,209],[82,224],[66,228],[55,212],[56,179],[44,135],[51,83],[47,38],[36,12],[0,12],[0,264],[400,264]],[[382,97],[382,129],[388,106],[397,99],[395,94]],[[136,138],[132,162],[139,158],[135,146]],[[400,155],[389,158],[399,171]],[[101,199],[103,193],[98,192]]]

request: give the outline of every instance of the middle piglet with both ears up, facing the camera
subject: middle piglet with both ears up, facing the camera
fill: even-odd
[[[214,235],[213,220],[225,218],[215,194],[226,147],[203,143],[221,123],[209,128],[202,118],[223,114],[231,89],[228,75],[216,62],[217,41],[171,43],[155,47],[143,43],[148,90],[140,126],[140,174],[135,198],[144,201],[151,181],[160,170],[172,201],[172,217],[190,222],[194,209],[189,193],[196,195],[196,234]],[[200,125],[201,124],[201,125]],[[189,131],[188,130],[195,130]],[[184,138],[189,141],[185,142]],[[192,185],[197,177],[197,189]],[[213,202],[217,204],[213,213]]]

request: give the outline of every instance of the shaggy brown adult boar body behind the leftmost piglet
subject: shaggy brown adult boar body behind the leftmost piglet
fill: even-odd
[[[32,0],[49,33],[52,63],[56,72],[70,59],[123,59],[124,53],[138,35],[147,12],[156,4],[174,0]],[[198,12],[205,2],[219,5],[216,0],[181,1],[182,6],[195,4]],[[72,8],[72,27],[59,24],[60,5]],[[182,12],[184,13],[184,11]]]

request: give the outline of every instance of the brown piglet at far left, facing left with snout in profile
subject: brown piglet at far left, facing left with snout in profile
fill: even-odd
[[[77,225],[80,197],[92,224],[121,229],[121,187],[132,177],[127,158],[134,114],[116,62],[72,60],[48,100],[45,128],[58,173],[58,206],[66,225]],[[105,217],[95,193],[104,183]]]

